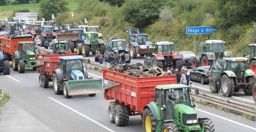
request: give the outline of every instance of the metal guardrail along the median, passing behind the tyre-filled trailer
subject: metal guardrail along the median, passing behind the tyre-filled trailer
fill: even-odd
[[[86,63],[86,66],[88,66],[91,69],[92,69],[92,67],[96,67],[101,71],[103,68],[110,67],[110,66],[99,64],[98,62],[94,62],[92,60],[90,63]],[[96,70],[98,70],[98,69],[96,69]],[[221,96],[218,94],[217,95],[212,94],[209,92],[200,92],[200,94],[198,94],[198,95],[196,95],[194,92],[191,92],[191,94],[193,94],[193,98],[197,98],[199,100],[204,100],[206,102],[210,102],[210,103],[216,104],[218,106],[236,110],[236,111],[242,112],[244,114],[256,116],[256,104],[255,103],[234,99],[232,97],[224,97],[224,96]]]

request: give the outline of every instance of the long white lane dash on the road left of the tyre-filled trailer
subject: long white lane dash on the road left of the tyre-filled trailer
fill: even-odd
[[[108,128],[108,127],[106,127],[106,126],[100,124],[100,122],[97,122],[96,120],[93,120],[92,118],[90,118],[90,117],[88,117],[88,116],[86,116],[86,115],[84,115],[84,114],[82,114],[82,113],[80,113],[80,112],[74,110],[73,108],[67,106],[66,104],[63,104],[62,102],[59,102],[58,100],[55,100],[55,99],[52,98],[52,97],[48,97],[48,98],[50,98],[51,100],[57,102],[58,104],[61,104],[61,105],[64,106],[64,107],[66,107],[66,108],[72,110],[73,112],[76,112],[76,113],[79,114],[80,116],[83,116],[84,118],[86,118],[86,119],[88,119],[88,120],[94,122],[95,124],[101,126],[102,128],[105,128],[106,130],[108,130],[108,131],[110,131],[110,132],[115,132],[114,130],[112,130],[112,129],[110,129],[110,128]]]

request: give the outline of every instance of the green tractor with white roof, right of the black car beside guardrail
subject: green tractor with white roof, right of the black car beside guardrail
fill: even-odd
[[[256,84],[254,72],[248,69],[245,57],[222,58],[214,61],[210,68],[210,90],[224,96],[232,96],[234,92],[244,91],[252,95]]]

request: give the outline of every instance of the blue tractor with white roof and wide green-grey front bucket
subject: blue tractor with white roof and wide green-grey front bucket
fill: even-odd
[[[90,59],[83,56],[59,57],[59,68],[53,71],[53,89],[55,94],[62,94],[65,98],[73,95],[95,96],[103,90],[102,78],[88,78],[84,61],[90,63]]]

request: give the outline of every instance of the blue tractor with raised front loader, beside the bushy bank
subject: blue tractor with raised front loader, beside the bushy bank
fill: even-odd
[[[129,50],[132,59],[136,59],[137,54],[145,56],[148,53],[147,46],[152,44],[152,42],[148,41],[148,34],[141,34],[138,28],[133,27],[124,27],[124,32],[128,32],[129,35]],[[150,48],[149,50],[149,52],[153,52],[154,48]]]

